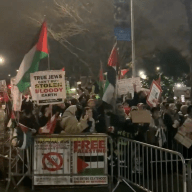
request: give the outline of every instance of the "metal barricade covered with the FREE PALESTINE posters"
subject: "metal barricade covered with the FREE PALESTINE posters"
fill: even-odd
[[[6,192],[25,177],[35,186],[106,186],[112,190],[113,142],[105,134],[49,135],[34,137],[33,146],[9,150]],[[109,163],[108,163],[109,161]],[[19,178],[16,182],[15,177]]]

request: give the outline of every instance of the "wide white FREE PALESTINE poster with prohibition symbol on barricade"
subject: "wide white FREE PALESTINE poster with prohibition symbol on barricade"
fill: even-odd
[[[37,137],[34,185],[103,185],[107,179],[107,136]]]

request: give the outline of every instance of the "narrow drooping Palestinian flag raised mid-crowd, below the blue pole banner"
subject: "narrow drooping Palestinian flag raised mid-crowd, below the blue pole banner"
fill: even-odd
[[[116,86],[116,67],[118,62],[117,44],[114,45],[108,60],[107,79],[104,88],[103,101],[111,104]]]

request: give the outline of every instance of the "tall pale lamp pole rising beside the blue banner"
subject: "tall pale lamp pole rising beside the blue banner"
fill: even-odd
[[[135,27],[134,26],[134,7],[133,7],[133,0],[131,0],[132,76],[136,77],[134,27]]]

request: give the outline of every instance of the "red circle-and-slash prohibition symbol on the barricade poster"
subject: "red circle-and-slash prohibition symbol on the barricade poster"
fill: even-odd
[[[59,163],[53,159],[53,156],[56,156],[56,158],[59,160]],[[50,152],[50,153],[44,154],[42,159],[42,164],[43,164],[43,168],[48,171],[57,171],[63,165],[63,158],[59,153]],[[48,167],[46,164],[50,164],[51,167]]]

